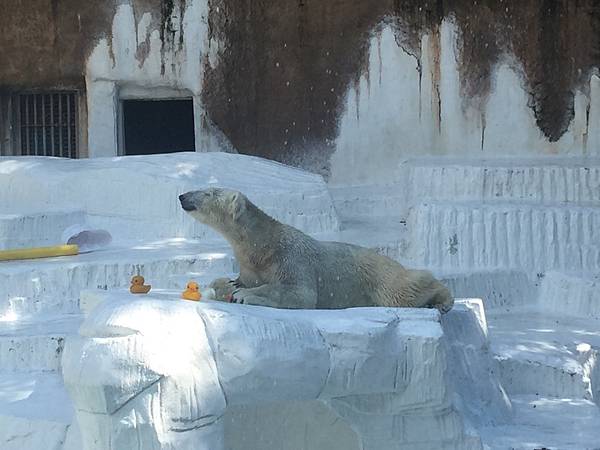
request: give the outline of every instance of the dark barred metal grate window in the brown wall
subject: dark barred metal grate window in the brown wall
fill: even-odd
[[[19,94],[15,100],[21,155],[77,157],[77,92]]]

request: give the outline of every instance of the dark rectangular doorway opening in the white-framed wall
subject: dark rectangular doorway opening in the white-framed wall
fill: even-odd
[[[191,98],[123,100],[123,154],[195,151]]]

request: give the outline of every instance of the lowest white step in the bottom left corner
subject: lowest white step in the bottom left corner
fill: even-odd
[[[54,373],[0,372],[2,450],[66,450],[73,408]]]

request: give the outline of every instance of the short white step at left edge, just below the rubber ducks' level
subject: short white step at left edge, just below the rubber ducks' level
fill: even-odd
[[[65,339],[77,333],[81,315],[0,322],[3,372],[59,371]]]

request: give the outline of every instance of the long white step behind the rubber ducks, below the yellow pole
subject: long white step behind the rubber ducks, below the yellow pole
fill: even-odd
[[[0,262],[0,321],[43,314],[77,313],[79,293],[89,288],[129,287],[141,274],[165,286],[173,274],[236,272],[220,244],[171,240],[115,247],[73,257]]]

